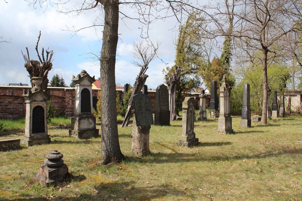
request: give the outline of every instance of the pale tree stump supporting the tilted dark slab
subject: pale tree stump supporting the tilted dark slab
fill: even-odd
[[[134,110],[132,110],[133,114],[133,127],[132,127],[132,146],[131,152],[137,156],[145,156],[149,155],[149,133],[150,133],[150,125],[146,126],[137,126],[135,121]]]

